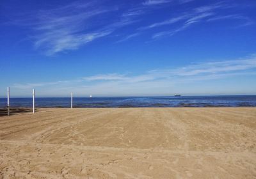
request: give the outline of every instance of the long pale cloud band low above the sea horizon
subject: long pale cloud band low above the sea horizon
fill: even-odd
[[[227,61],[213,61],[194,65],[180,66],[150,70],[140,75],[132,74],[99,74],[79,77],[73,80],[42,82],[29,84],[14,84],[12,88],[29,89],[44,88],[68,92],[76,91],[77,94],[94,93],[97,95],[129,95],[154,91],[166,92],[174,84],[188,84],[195,81],[211,81],[227,77],[256,75],[256,56],[244,59]]]

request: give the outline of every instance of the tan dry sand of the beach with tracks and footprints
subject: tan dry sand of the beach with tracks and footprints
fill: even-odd
[[[256,108],[2,116],[0,178],[256,178]]]

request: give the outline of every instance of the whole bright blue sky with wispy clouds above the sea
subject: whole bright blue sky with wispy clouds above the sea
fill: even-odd
[[[256,94],[254,0],[1,0],[0,26],[0,97]]]

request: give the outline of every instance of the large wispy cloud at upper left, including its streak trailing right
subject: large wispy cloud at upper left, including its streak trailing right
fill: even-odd
[[[35,48],[52,56],[78,49],[88,42],[110,35],[120,27],[138,22],[133,16],[142,13],[141,10],[128,11],[113,20],[104,20],[105,14],[116,10],[93,2],[74,1],[61,8],[40,10],[14,23],[31,27],[33,35],[30,37],[35,42]]]

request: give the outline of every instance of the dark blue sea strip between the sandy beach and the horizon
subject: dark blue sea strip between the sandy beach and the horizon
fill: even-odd
[[[36,98],[36,107],[70,107],[70,98]],[[32,98],[10,98],[11,107],[31,107]],[[6,98],[0,98],[6,107]],[[73,107],[256,107],[256,96],[73,98]]]

